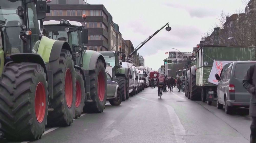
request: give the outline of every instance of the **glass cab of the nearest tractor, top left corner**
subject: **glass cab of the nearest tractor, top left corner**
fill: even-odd
[[[49,11],[47,1],[7,0],[0,1],[0,7],[0,46],[5,57],[10,60],[12,54],[32,53],[43,35],[42,19]]]

